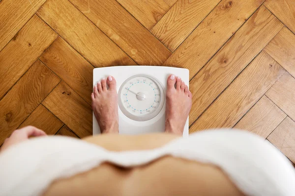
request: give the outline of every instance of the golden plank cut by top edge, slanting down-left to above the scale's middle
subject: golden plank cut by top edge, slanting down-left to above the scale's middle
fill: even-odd
[[[174,51],[219,1],[178,0],[150,32]],[[230,3],[227,6],[231,6]]]

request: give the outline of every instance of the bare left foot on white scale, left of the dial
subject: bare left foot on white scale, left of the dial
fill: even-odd
[[[107,84],[109,89],[107,89]],[[108,76],[93,88],[92,109],[100,127],[101,133],[118,133],[118,96],[116,80]]]

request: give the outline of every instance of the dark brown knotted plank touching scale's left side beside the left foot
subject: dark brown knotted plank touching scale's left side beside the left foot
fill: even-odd
[[[91,106],[65,82],[61,81],[49,96],[42,101],[42,105],[80,138],[92,134]]]

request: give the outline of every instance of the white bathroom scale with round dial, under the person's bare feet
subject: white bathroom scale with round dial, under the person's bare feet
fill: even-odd
[[[167,78],[175,74],[188,86],[189,71],[163,66],[115,66],[95,68],[93,87],[102,78],[115,77],[118,92],[119,134],[164,132]],[[93,135],[100,129],[93,113]],[[188,136],[188,118],[183,137]]]

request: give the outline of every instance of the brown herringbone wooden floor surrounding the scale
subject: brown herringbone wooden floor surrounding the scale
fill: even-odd
[[[190,70],[190,133],[235,127],[295,162],[294,0],[0,0],[0,144],[92,133],[92,70]]]

